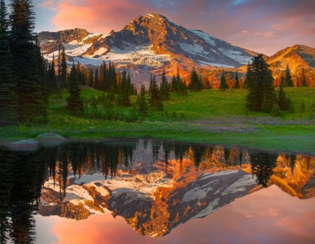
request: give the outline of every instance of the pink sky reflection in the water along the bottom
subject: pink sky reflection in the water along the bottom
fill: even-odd
[[[123,217],[110,214],[90,215],[80,221],[36,215],[35,244],[312,244],[314,203],[315,198],[301,200],[272,185],[236,199],[207,217],[180,224],[157,239],[139,236]]]

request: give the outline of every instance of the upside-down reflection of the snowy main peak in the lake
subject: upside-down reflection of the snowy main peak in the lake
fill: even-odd
[[[240,169],[198,171],[192,161],[183,159],[182,164],[169,160],[167,170],[164,162],[151,165],[150,171],[118,170],[109,180],[102,173],[70,178],[62,200],[58,189],[58,182],[45,182],[41,215],[83,220],[90,214],[110,213],[124,217],[139,235],[158,238],[249,194],[257,189],[257,182]]]

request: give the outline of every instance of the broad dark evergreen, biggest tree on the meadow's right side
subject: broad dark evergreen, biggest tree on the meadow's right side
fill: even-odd
[[[253,57],[253,63],[248,64],[246,73],[246,107],[253,111],[269,113],[276,102],[272,72],[262,55]]]

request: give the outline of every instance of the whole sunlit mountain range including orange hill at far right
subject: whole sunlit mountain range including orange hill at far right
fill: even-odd
[[[134,18],[120,31],[109,34],[89,33],[86,29],[38,33],[41,51],[45,59],[57,57],[63,46],[69,66],[73,62],[87,66],[100,66],[102,62],[114,62],[120,69],[130,70],[132,80],[148,83],[151,73],[159,76],[165,67],[167,76],[173,76],[179,67],[185,77],[195,67],[209,78],[215,87],[222,69],[239,70],[244,79],[246,65],[257,55],[252,50],[239,48],[200,30],[186,29],[167,17],[147,14]],[[278,78],[288,64],[293,82],[301,80],[302,70],[309,84],[315,84],[315,49],[294,45],[265,56],[274,77]],[[233,76],[233,75],[232,75]],[[278,80],[279,81],[279,80]]]

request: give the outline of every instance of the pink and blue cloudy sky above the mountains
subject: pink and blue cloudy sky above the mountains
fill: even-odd
[[[232,45],[265,55],[288,46],[315,48],[314,0],[33,0],[35,31],[120,31],[146,13],[165,15]]]

